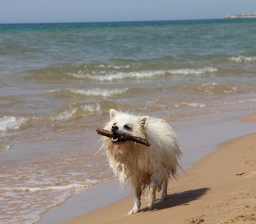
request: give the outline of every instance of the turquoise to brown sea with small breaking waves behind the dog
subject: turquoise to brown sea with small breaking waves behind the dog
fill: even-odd
[[[179,118],[253,111],[255,46],[255,19],[0,24],[0,222],[113,178],[95,154],[110,108],[180,135]]]

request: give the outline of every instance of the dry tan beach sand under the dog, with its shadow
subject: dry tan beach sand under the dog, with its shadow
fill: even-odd
[[[256,115],[240,122],[255,122]],[[147,195],[147,192],[145,192]],[[159,196],[159,195],[158,195]],[[242,136],[218,145],[168,184],[168,199],[127,215],[133,198],[108,205],[72,220],[70,223],[256,223],[256,134]]]

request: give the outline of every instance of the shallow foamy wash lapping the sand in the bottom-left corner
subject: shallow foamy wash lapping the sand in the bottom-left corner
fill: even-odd
[[[20,220],[26,220],[26,223],[37,223],[40,220],[40,214],[44,213],[52,207],[63,204],[72,193],[81,191],[91,186],[98,184],[100,180],[86,179],[84,184],[76,182],[58,185],[35,184],[35,186],[10,186],[0,190],[0,204],[2,214],[0,220],[3,223],[20,223]],[[47,193],[47,197],[44,196]],[[26,200],[23,198],[26,197]],[[36,200],[40,198],[40,203]],[[27,203],[35,202],[35,203]],[[24,207],[25,211],[17,209]],[[15,216],[13,216],[15,212]]]

